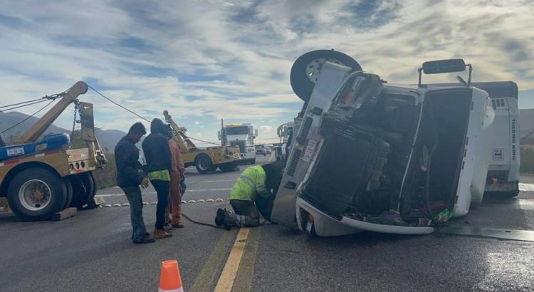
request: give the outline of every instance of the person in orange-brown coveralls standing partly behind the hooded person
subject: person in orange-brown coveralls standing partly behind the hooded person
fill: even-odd
[[[184,160],[176,141],[172,140],[172,129],[167,125],[167,138],[172,157],[172,172],[169,188],[169,207],[166,212],[167,229],[183,228],[182,224],[182,193],[180,181],[184,176]]]

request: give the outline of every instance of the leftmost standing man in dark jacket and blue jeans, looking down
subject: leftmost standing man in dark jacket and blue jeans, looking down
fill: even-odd
[[[135,144],[141,140],[147,131],[145,126],[136,122],[130,127],[128,134],[115,146],[115,164],[117,165],[117,185],[126,194],[130,203],[130,221],[132,221],[132,241],[135,244],[148,244],[155,241],[147,233],[143,220],[143,202],[141,189],[148,186],[148,179],[141,171],[139,150]]]

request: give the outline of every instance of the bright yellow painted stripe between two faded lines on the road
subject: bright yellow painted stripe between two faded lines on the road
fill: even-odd
[[[239,229],[239,233],[237,234],[234,247],[232,247],[230,251],[230,255],[228,256],[228,261],[226,261],[226,264],[224,265],[224,269],[221,273],[221,277],[219,278],[219,281],[217,282],[217,286],[215,286],[215,292],[232,290],[232,286],[234,286],[234,280],[236,278],[237,270],[239,268],[239,263],[241,262],[241,258],[243,257],[243,251],[245,250],[246,239],[248,239],[249,231],[250,229],[248,228]]]

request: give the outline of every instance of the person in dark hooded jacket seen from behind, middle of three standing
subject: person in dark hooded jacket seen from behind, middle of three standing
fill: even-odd
[[[171,230],[164,228],[172,172],[172,157],[165,137],[166,130],[162,120],[154,119],[150,124],[150,135],[142,142],[143,153],[147,160],[148,178],[157,192],[155,239],[172,236]]]

